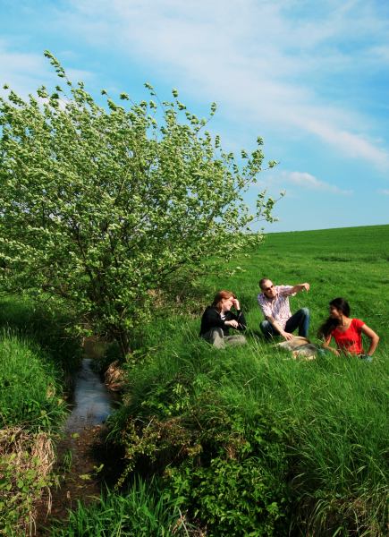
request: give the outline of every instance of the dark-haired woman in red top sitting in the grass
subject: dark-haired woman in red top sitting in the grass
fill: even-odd
[[[363,350],[362,334],[370,339],[366,354]],[[367,360],[371,360],[379,341],[376,332],[368,328],[363,320],[350,318],[350,306],[344,298],[335,298],[330,302],[330,316],[319,328],[319,336],[324,337],[324,348],[337,356],[343,352],[356,354]],[[332,337],[334,337],[337,349],[329,346]]]

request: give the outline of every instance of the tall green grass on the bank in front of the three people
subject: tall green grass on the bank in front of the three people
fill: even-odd
[[[150,344],[161,341],[165,328],[160,328]],[[162,461],[168,483],[175,467],[173,484],[166,486],[185,498],[182,509],[204,516],[211,535],[262,534],[255,533],[261,528],[263,534],[281,535],[290,526],[304,535],[385,534],[387,377],[382,356],[373,363],[332,356],[296,362],[256,337],[247,347],[216,351],[198,341],[192,323],[174,331],[170,326],[169,333],[164,349],[131,370],[128,404],[112,418],[113,435],[116,431],[126,438],[127,433],[130,445],[129,416],[140,423],[138,437],[148,435],[148,444],[133,437],[127,449],[131,468],[144,470],[147,447],[148,471],[156,470],[153,461]],[[176,437],[169,439],[162,423],[172,430],[175,420]],[[150,434],[153,425],[160,441]],[[200,455],[192,457],[189,471],[179,453],[197,449]],[[283,511],[276,513],[278,522],[271,525],[269,516],[263,520],[257,514],[249,526],[245,507],[237,507],[232,497],[231,504],[219,506],[224,520],[226,512],[233,512],[231,528],[220,530],[217,517],[209,524],[212,512],[197,490],[178,487],[177,474],[184,480],[216,456],[235,457],[242,465],[250,459],[253,468],[260,466],[272,476],[261,487],[267,487],[267,505],[276,504]],[[218,485],[220,490],[224,485],[209,479],[202,485],[203,497],[214,487],[217,498]],[[231,489],[234,483],[235,479],[229,483]],[[247,533],[240,533],[241,517]]]

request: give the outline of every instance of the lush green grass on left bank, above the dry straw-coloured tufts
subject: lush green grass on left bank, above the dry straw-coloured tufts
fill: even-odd
[[[64,379],[80,361],[69,316],[22,298],[0,303],[0,427],[50,430],[64,417]]]

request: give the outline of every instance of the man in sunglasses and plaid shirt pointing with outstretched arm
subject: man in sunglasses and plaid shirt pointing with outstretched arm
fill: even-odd
[[[308,337],[309,309],[301,308],[292,315],[289,297],[300,291],[309,291],[309,284],[297,286],[275,286],[264,277],[259,282],[262,293],[258,294],[258,304],[266,320],[260,328],[266,339],[282,336],[285,340],[292,339],[292,332],[299,328],[299,336]]]

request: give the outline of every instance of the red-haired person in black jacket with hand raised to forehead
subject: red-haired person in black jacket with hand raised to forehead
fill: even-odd
[[[244,345],[246,337],[242,334],[230,336],[230,328],[242,332],[247,328],[246,320],[235,294],[223,290],[216,293],[214,302],[202,315],[200,337],[219,349],[225,345]]]

